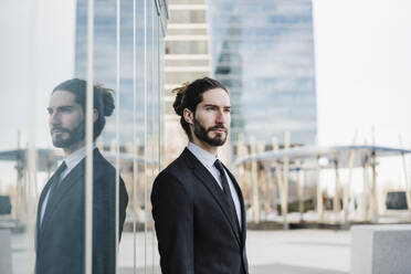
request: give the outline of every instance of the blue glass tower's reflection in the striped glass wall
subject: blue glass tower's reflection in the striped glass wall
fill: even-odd
[[[146,3],[146,4],[145,4]],[[116,1],[96,1],[94,27],[94,80],[116,89]],[[167,24],[167,1],[136,1],[136,126],[139,144],[158,140],[162,115],[164,36]],[[120,145],[133,143],[133,1],[120,7]],[[159,11],[159,12],[158,12]],[[145,18],[146,14],[146,18]],[[159,17],[157,14],[160,14]],[[75,76],[86,77],[87,65],[87,1],[76,7]],[[147,125],[145,127],[145,124]],[[103,133],[105,146],[116,136],[115,119],[107,120]],[[152,138],[150,138],[152,137]]]

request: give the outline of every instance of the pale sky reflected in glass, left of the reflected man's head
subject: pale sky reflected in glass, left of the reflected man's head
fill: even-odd
[[[17,147],[19,129],[25,144],[29,125],[35,126],[38,146],[51,146],[45,108],[52,88],[74,75],[74,4],[73,0],[1,1],[0,114],[12,117],[1,119],[7,130],[0,150]]]

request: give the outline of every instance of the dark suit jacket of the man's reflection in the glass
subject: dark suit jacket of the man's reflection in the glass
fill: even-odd
[[[115,168],[94,150],[93,159],[93,273],[115,273]],[[48,201],[42,223],[40,211],[54,176],[39,201],[36,221],[36,274],[84,273],[85,264],[85,159],[60,182]],[[128,196],[119,183],[119,235]]]

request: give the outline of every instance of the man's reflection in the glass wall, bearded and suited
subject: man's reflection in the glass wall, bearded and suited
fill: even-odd
[[[74,78],[51,95],[49,125],[64,160],[45,185],[36,219],[36,274],[85,271],[85,105],[86,82]],[[94,140],[114,109],[112,91],[94,86]],[[115,273],[116,171],[97,148],[93,151],[93,273]],[[123,231],[128,196],[119,180],[118,230]]]

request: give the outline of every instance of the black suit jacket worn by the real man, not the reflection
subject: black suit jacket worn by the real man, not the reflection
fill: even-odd
[[[162,274],[249,273],[244,200],[226,171],[240,198],[242,231],[215,179],[187,148],[156,178],[151,203]]]

